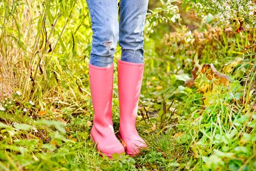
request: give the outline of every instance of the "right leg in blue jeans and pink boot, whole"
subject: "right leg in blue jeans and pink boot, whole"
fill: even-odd
[[[136,130],[138,101],[144,70],[143,28],[148,0],[121,0],[118,61],[118,95],[120,106],[119,138],[126,144],[127,154],[134,155],[147,145]]]

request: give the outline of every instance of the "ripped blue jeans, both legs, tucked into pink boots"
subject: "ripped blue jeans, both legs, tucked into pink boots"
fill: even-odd
[[[122,47],[122,61],[143,63],[143,30],[148,0],[86,0],[93,29],[90,64],[112,65],[117,42]]]

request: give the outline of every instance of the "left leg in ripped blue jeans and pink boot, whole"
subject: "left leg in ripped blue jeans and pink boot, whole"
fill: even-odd
[[[124,153],[112,123],[113,55],[117,45],[117,0],[87,0],[93,28],[89,80],[94,119],[91,138],[108,157]]]

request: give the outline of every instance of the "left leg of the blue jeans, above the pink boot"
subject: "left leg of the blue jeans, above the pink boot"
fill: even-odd
[[[117,0],[86,0],[92,23],[93,42],[90,64],[99,67],[112,65],[118,41]]]

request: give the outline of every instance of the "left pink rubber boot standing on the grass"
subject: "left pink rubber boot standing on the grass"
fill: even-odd
[[[94,119],[91,138],[99,152],[111,158],[114,153],[124,153],[124,147],[115,136],[112,123],[114,65],[97,67],[89,64],[91,99]]]

